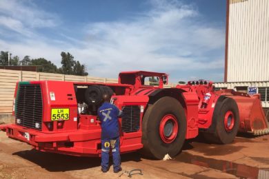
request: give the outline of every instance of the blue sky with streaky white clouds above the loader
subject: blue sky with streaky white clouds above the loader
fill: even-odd
[[[57,66],[70,52],[91,76],[223,81],[225,25],[226,0],[1,0],[0,50]]]

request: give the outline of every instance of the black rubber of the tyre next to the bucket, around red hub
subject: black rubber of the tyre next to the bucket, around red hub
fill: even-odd
[[[224,126],[224,116],[228,111],[232,111],[235,116],[235,125],[231,131],[226,131]],[[233,100],[232,98],[225,98],[222,101],[219,110],[214,112],[212,120],[215,120],[216,123],[214,132],[204,132],[202,134],[203,138],[205,138],[210,143],[232,143],[232,141],[235,139],[235,136],[237,136],[237,132],[239,129],[239,109],[235,100]]]

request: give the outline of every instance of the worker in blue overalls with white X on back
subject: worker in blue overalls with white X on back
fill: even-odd
[[[114,173],[121,171],[121,156],[119,153],[119,116],[121,111],[110,103],[111,96],[103,94],[103,105],[98,109],[101,121],[101,171],[108,171],[109,152],[112,151]]]

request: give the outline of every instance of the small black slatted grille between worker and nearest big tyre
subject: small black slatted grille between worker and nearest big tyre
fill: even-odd
[[[123,108],[121,120],[121,130],[123,132],[138,131],[140,127],[140,107],[138,105],[128,105]]]

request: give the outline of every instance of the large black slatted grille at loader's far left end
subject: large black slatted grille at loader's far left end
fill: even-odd
[[[32,129],[42,129],[43,103],[40,85],[21,84],[16,98],[16,118],[21,125]],[[39,123],[39,128],[36,127]]]

